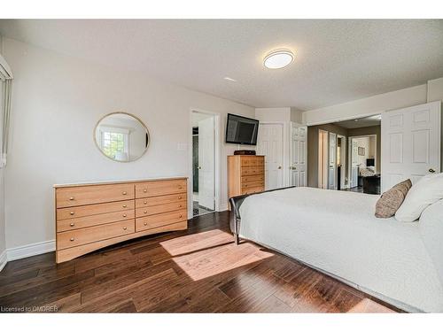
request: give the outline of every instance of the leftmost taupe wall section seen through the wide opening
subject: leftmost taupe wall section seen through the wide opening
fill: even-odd
[[[307,186],[318,187],[318,130],[326,130],[337,135],[346,136],[347,130],[333,124],[307,127]],[[346,149],[347,150],[347,149]]]

